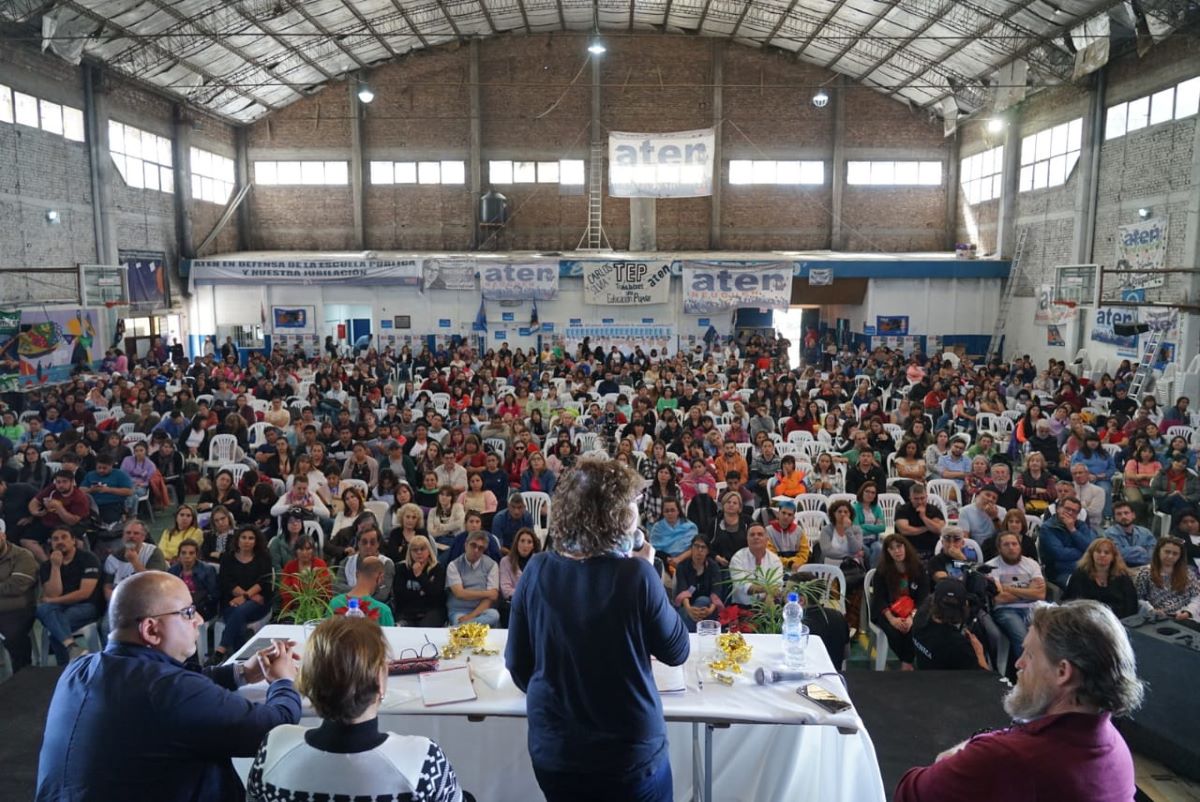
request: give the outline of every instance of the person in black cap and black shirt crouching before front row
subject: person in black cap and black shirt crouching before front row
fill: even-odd
[[[913,624],[918,671],[988,669],[983,644],[966,627],[970,614],[967,588],[961,581],[943,579],[937,583]]]

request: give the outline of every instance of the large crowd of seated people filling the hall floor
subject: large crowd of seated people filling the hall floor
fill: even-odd
[[[731,568],[776,562],[838,565],[848,627],[866,593],[905,668],[941,579],[967,586],[992,653],[1019,653],[1043,595],[1200,615],[1187,399],[1130,399],[1127,364],[1093,382],[860,347],[791,369],[787,345],[150,354],[24,393],[0,426],[0,579],[32,579],[4,586],[0,632],[16,668],[35,620],[60,660],[84,653],[106,589],[155,567],[222,620],[214,659],[287,618],[304,571],[330,611],[503,626],[546,502],[590,451],[647,479],[642,525],[689,628],[754,603]]]

